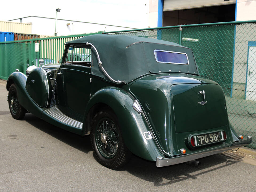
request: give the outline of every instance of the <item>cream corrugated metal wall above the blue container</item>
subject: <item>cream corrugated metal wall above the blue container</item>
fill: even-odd
[[[10,21],[0,21],[0,31],[13,33],[32,33],[32,23],[16,23]]]

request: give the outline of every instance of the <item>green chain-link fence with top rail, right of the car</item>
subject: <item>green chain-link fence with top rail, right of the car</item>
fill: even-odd
[[[229,120],[256,149],[256,21],[107,32],[171,41],[193,50],[201,76],[218,82]]]

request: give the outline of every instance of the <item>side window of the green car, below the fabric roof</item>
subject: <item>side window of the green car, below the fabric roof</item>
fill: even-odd
[[[91,67],[91,49],[85,44],[69,46],[65,63]]]

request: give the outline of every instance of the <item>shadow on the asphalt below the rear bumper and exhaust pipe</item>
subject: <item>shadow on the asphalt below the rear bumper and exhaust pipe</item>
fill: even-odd
[[[167,167],[156,167],[155,162],[146,161],[133,155],[131,161],[119,170],[127,171],[145,181],[153,182],[154,186],[164,186],[187,179],[197,179],[199,175],[216,171],[239,162],[237,160],[227,159],[219,154],[197,160],[201,162],[200,168],[185,163]]]

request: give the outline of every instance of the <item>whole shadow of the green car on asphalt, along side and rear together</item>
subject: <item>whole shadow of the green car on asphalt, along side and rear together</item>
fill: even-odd
[[[93,150],[90,143],[90,135],[81,137],[80,135],[51,125],[50,123],[37,118],[33,114],[26,114],[24,120],[37,129],[84,153]],[[93,154],[93,157],[95,161],[97,161],[95,154]],[[199,175],[216,171],[239,162],[237,160],[227,159],[225,156],[218,154],[198,159],[198,161],[201,162],[200,168],[192,167],[185,163],[159,168],[156,167],[155,162],[147,161],[136,155],[132,155],[130,162],[126,166],[113,171],[127,171],[135,177],[153,182],[154,186],[164,186],[186,179],[197,179]]]

